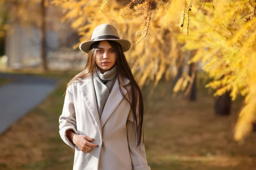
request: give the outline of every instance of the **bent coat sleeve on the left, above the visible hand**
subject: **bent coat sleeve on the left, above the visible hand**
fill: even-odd
[[[77,146],[73,144],[73,142],[71,142],[66,136],[66,131],[70,129],[73,130],[74,133],[78,134],[76,130],[76,113],[74,108],[73,94],[70,91],[71,88],[68,87],[64,99],[62,114],[59,117],[59,133],[61,139],[70,147],[75,149]]]

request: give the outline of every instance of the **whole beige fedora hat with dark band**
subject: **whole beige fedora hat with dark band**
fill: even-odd
[[[110,24],[101,24],[94,28],[90,41],[82,42],[79,45],[81,51],[88,53],[90,45],[96,41],[111,40],[122,45],[123,51],[128,51],[131,48],[131,42],[125,39],[120,39],[116,28]]]

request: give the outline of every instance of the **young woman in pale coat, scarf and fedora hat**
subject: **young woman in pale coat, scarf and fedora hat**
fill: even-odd
[[[87,63],[68,83],[59,118],[61,138],[76,149],[74,170],[150,170],[143,97],[124,54],[130,47],[109,24],[80,44]]]

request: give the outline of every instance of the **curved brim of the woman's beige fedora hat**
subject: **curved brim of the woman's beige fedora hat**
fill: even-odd
[[[88,53],[90,49],[90,45],[92,45],[94,42],[104,41],[104,40],[118,42],[122,46],[124,52],[128,51],[131,48],[131,42],[125,39],[101,39],[101,40],[93,40],[93,41],[90,40],[90,41],[82,42],[79,45],[79,49],[81,51],[84,51],[85,53]]]

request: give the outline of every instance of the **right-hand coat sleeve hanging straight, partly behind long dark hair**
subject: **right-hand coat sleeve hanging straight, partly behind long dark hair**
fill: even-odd
[[[145,146],[143,140],[140,142],[140,146],[137,147],[137,134],[135,136],[135,124],[133,126],[134,118],[132,110],[128,115],[128,119],[126,122],[126,129],[127,129],[127,139],[129,145],[129,151],[132,161],[133,170],[150,170],[148,166],[146,153],[145,153]]]

